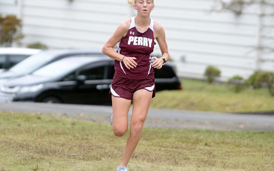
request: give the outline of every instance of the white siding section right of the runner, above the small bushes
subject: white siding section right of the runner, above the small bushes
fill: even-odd
[[[166,31],[171,58],[180,76],[202,78],[208,65],[218,67],[221,80],[248,77],[256,64],[257,16],[236,17],[229,11],[210,12],[211,0],[155,1],[151,13]],[[160,51],[159,48],[155,50]]]

